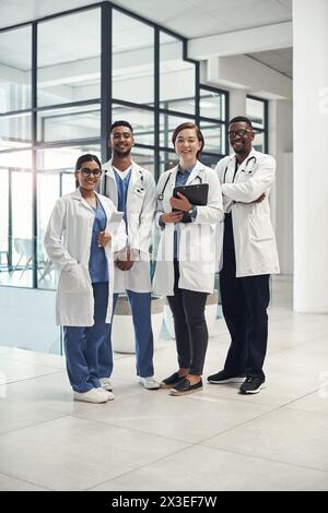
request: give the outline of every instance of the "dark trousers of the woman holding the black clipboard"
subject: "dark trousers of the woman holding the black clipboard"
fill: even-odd
[[[204,318],[207,294],[178,288],[179,263],[174,261],[174,296],[167,296],[173,313],[175,341],[180,368],[201,375],[208,347]]]

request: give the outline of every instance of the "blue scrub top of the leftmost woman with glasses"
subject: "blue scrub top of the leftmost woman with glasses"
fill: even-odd
[[[90,248],[89,272],[92,283],[108,282],[108,265],[104,248],[98,248],[97,238],[99,231],[104,231],[107,224],[107,216],[103,205],[97,200],[94,211],[94,222],[92,227],[92,239]]]

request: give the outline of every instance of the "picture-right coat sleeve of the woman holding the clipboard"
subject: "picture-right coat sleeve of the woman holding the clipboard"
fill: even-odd
[[[220,223],[223,217],[221,184],[213,169],[207,170],[207,181],[209,183],[208,204],[197,206],[195,224],[215,224]]]

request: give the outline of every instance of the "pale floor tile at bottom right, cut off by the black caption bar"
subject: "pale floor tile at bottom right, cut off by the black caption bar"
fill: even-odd
[[[304,491],[327,490],[327,488],[328,473],[194,445],[178,454],[166,456],[104,482],[94,488],[94,491]]]

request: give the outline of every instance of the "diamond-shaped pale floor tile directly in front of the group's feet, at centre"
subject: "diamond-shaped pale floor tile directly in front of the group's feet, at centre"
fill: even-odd
[[[203,392],[173,397],[168,391],[159,390],[143,391],[124,402],[115,401],[110,405],[110,415],[104,408],[87,409],[77,415],[195,443],[270,409],[271,406],[266,405],[235,404]]]

